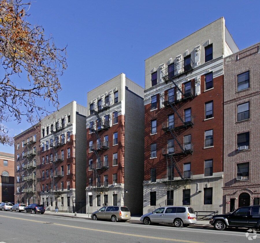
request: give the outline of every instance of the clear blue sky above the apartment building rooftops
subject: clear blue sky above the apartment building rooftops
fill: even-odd
[[[87,92],[120,73],[144,87],[146,58],[222,16],[240,50],[258,43],[259,9],[259,0],[36,0],[27,20],[42,25],[57,47],[68,45],[60,107],[72,100],[87,106]],[[6,126],[15,135],[31,125]],[[14,148],[0,145],[0,151]]]

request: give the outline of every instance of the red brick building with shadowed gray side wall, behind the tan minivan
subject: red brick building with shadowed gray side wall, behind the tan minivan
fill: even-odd
[[[104,205],[142,214],[144,89],[114,77],[88,92],[87,201],[90,212]]]

